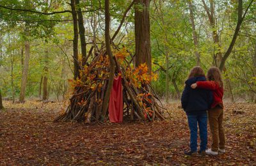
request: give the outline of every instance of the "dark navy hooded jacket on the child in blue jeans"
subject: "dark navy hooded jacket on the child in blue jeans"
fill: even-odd
[[[200,114],[211,108],[211,103],[213,102],[212,91],[201,88],[192,89],[190,87],[196,81],[205,80],[205,77],[193,77],[186,80],[186,86],[181,96],[181,105],[187,114]]]

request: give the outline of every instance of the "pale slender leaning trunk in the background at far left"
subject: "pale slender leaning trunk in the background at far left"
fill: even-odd
[[[21,85],[20,85],[20,97],[19,97],[20,102],[25,102],[26,83],[27,83],[27,79],[28,79],[29,54],[30,54],[30,44],[29,44],[29,39],[28,39],[28,36],[29,36],[28,23],[26,25],[25,34],[26,34],[25,58],[24,58],[24,66],[22,69],[22,80],[21,80]]]

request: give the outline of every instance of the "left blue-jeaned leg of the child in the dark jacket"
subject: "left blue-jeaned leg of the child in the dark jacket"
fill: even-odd
[[[188,115],[188,126],[190,130],[190,150],[196,152],[197,150],[197,116]]]

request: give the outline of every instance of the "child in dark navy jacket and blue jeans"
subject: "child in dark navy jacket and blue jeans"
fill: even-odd
[[[195,66],[189,73],[185,88],[181,96],[182,109],[188,116],[190,130],[190,151],[186,155],[196,155],[197,151],[197,123],[200,132],[200,151],[204,155],[207,146],[207,110],[213,100],[212,92],[206,89],[192,89],[191,84],[205,81],[205,74],[200,66]]]

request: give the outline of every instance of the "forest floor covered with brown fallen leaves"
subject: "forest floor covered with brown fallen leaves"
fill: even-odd
[[[256,105],[226,103],[227,153],[186,156],[189,130],[179,103],[168,121],[52,123],[62,103],[4,102],[0,165],[256,165]],[[209,134],[209,143],[211,136]]]

